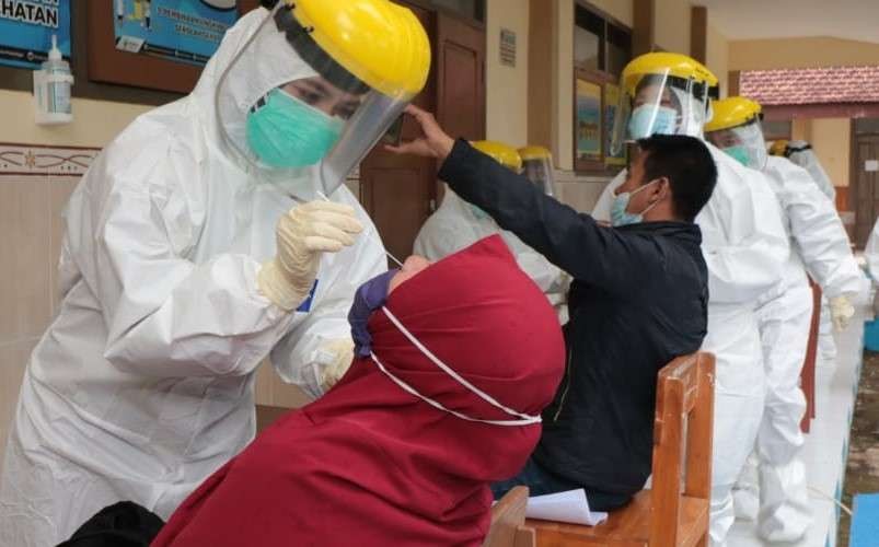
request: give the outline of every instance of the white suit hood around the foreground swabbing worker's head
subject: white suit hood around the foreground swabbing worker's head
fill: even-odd
[[[190,96],[231,160],[261,178],[289,181],[312,168],[258,168],[247,144],[247,113],[273,89],[315,75],[277,31],[269,11],[257,8],[227,31]]]

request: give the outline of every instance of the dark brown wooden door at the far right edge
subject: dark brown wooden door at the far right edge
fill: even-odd
[[[855,211],[855,244],[864,248],[879,217],[879,135],[854,135],[853,138],[848,206]]]

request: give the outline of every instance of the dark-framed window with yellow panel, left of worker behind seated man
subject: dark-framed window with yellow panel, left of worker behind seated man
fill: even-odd
[[[579,172],[610,174],[625,166],[611,154],[616,83],[632,60],[632,31],[586,2],[574,18],[574,158]]]

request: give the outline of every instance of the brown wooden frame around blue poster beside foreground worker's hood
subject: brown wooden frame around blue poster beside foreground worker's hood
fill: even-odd
[[[89,20],[89,78],[92,81],[176,93],[193,90],[201,73],[200,66],[117,49],[115,3],[94,0],[83,4]],[[258,4],[258,0],[239,0],[238,11],[246,13]]]

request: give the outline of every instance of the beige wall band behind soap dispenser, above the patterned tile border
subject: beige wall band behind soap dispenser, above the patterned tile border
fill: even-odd
[[[34,123],[31,93],[0,90],[0,142],[103,147],[138,115],[153,106],[73,98],[73,121],[61,126]]]

